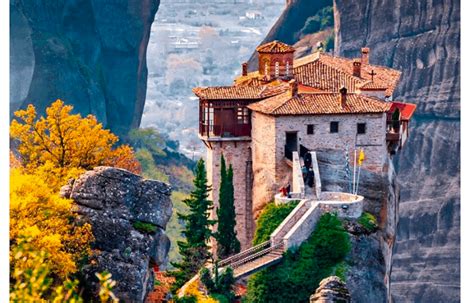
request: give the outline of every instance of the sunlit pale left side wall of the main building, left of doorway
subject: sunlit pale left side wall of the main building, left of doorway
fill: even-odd
[[[278,191],[276,185],[275,119],[252,112],[252,203],[254,217]],[[286,165],[286,164],[285,164]],[[290,174],[291,176],[291,170]],[[289,178],[287,181],[291,180]]]

